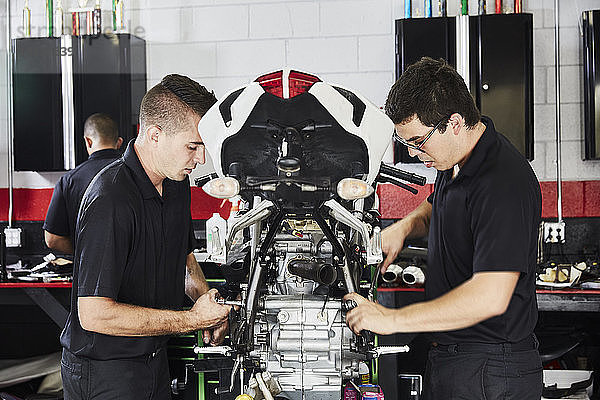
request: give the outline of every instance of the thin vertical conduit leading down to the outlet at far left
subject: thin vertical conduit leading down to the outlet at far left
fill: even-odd
[[[10,25],[10,0],[6,0],[6,128],[8,141],[8,227],[12,228],[13,214],[13,189],[14,189],[14,127],[13,127],[13,80],[12,80],[12,44],[11,44],[11,25]]]

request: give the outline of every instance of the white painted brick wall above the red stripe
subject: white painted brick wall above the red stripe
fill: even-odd
[[[36,27],[43,26],[44,3],[30,0],[32,24]],[[75,0],[63,3],[67,9]],[[504,3],[507,9],[512,7],[512,2]],[[109,9],[110,4],[110,0],[102,0],[104,9]],[[293,66],[353,88],[383,105],[394,82],[393,20],[404,16],[403,0],[128,0],[126,5],[129,29],[143,29],[148,42],[149,87],[165,74],[177,72],[223,96],[263,72]],[[21,7],[22,2],[12,2],[13,37],[21,24]],[[488,11],[493,11],[493,7],[493,2],[488,1]],[[556,176],[553,7],[554,0],[524,0],[525,11],[534,14],[536,158],[532,165],[541,180]],[[598,0],[560,0],[562,164],[563,176],[568,180],[600,179],[600,162],[581,160],[579,29],[581,11],[594,7],[600,7]],[[448,1],[450,15],[457,14],[458,9],[459,0]],[[470,2],[469,10],[477,12],[476,1]],[[3,13],[2,7],[0,16]],[[413,15],[423,15],[422,2],[413,1]],[[110,24],[108,18],[104,23]],[[0,38],[5,26],[0,17]],[[2,41],[0,49],[4,48]],[[2,166],[7,163],[5,88],[6,77],[0,73]],[[211,170],[211,164],[207,164],[195,174]],[[421,166],[410,169],[426,172]],[[0,187],[6,187],[6,169],[0,170]],[[58,176],[21,172],[15,174],[15,184],[51,187]]]

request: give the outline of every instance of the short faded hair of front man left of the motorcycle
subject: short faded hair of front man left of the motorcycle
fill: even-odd
[[[140,125],[174,131],[187,122],[189,112],[202,117],[216,102],[215,94],[198,82],[183,75],[167,75],[144,95]]]

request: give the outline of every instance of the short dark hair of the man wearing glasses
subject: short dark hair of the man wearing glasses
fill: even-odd
[[[467,128],[481,120],[463,78],[445,60],[429,57],[410,65],[394,83],[385,113],[394,124],[409,122],[415,114],[425,126],[435,126],[454,113],[462,115]]]

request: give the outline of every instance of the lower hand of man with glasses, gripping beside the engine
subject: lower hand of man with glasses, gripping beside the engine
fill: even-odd
[[[346,314],[346,323],[357,335],[360,335],[362,330],[380,335],[396,333],[394,330],[394,310],[373,303],[358,293],[348,293],[344,296],[344,300],[354,300],[357,304],[356,308]]]

